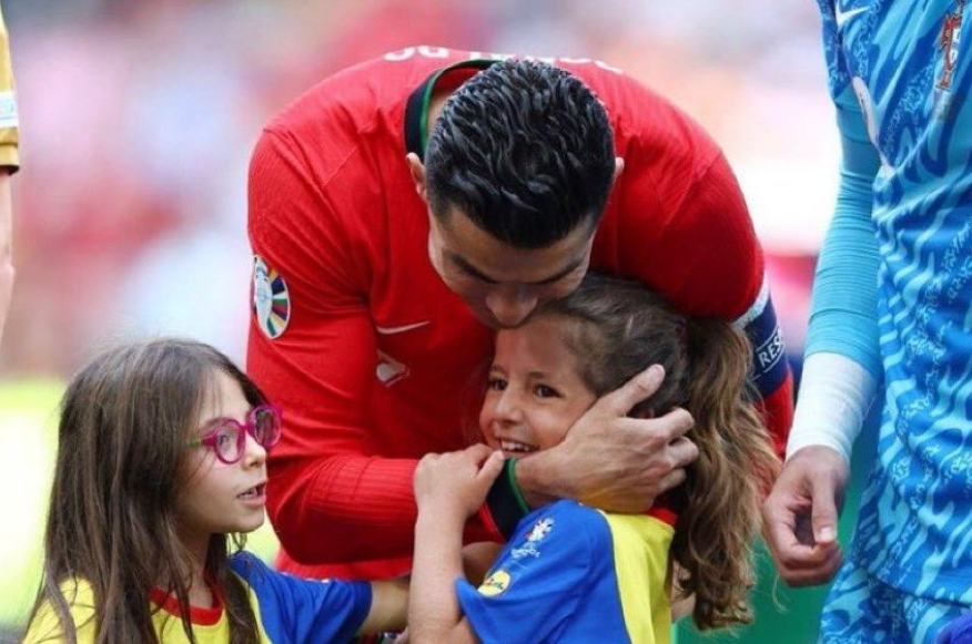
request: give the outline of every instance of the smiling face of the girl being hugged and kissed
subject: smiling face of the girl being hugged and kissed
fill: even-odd
[[[559,443],[596,399],[561,339],[563,324],[544,316],[496,335],[479,428],[507,458]]]

